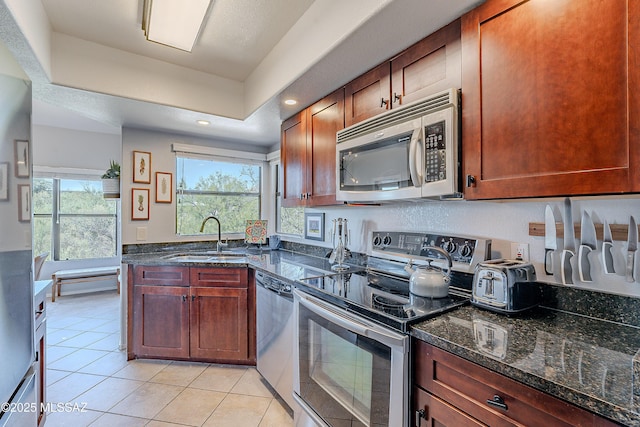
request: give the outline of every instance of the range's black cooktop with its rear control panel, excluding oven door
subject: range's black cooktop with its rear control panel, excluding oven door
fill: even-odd
[[[304,292],[401,332],[413,323],[467,304],[473,271],[491,257],[491,240],[436,233],[373,232],[367,269],[303,279]],[[409,292],[408,262],[423,264],[445,249],[453,260],[449,295],[423,298]],[[444,261],[443,261],[444,262]]]

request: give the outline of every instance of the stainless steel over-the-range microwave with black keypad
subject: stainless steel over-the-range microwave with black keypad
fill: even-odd
[[[337,199],[462,198],[459,105],[448,89],[339,131]]]

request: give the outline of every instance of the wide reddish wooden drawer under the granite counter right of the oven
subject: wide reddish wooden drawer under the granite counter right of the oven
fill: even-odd
[[[415,344],[416,385],[491,426],[617,425],[423,341]],[[494,396],[503,408],[488,403]]]

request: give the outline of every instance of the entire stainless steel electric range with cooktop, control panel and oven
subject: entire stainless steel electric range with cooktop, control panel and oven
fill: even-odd
[[[467,304],[473,269],[491,254],[489,240],[433,233],[374,232],[371,244],[365,271],[294,290],[296,426],[408,426],[408,328]],[[404,266],[435,259],[429,246],[453,259],[445,298],[409,292]]]

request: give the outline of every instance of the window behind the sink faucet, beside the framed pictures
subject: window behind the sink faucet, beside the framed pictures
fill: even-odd
[[[261,166],[177,156],[176,171],[178,234],[200,234],[209,215],[218,217],[227,234],[244,234],[248,219],[261,218]],[[215,223],[205,227],[205,232],[217,233]]]

